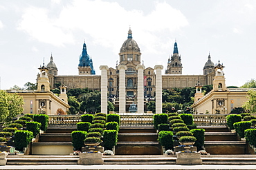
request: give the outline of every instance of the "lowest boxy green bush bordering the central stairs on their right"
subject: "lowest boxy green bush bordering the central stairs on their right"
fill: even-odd
[[[166,150],[172,149],[174,143],[172,131],[160,131],[158,133],[158,141]]]

